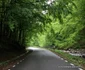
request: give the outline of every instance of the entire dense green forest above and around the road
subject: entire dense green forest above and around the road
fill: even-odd
[[[85,49],[85,0],[0,0],[0,49]]]

